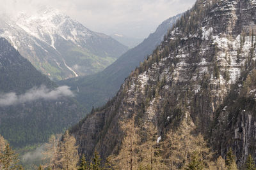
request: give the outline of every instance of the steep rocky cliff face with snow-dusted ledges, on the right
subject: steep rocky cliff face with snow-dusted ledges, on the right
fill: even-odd
[[[138,125],[154,122],[159,136],[183,115],[223,157],[231,146],[241,166],[254,153],[255,118],[241,105],[230,124],[224,120],[232,113],[220,110],[241,73],[255,66],[255,15],[255,1],[196,1],[116,97],[72,129],[79,152],[90,156],[97,149],[104,158],[116,152],[122,145],[120,121],[132,115]]]

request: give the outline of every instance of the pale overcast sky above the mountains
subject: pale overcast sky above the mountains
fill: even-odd
[[[52,6],[92,31],[146,38],[164,20],[193,6],[195,0],[0,0],[0,10],[31,12]]]

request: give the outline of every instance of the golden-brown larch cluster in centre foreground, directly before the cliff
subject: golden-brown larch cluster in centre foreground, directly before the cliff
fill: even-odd
[[[225,160],[215,159],[203,136],[196,134],[195,125],[186,118],[164,136],[157,136],[152,122],[138,126],[134,118],[122,122],[121,127],[125,132],[122,145],[102,169],[237,169],[232,150],[228,150]]]

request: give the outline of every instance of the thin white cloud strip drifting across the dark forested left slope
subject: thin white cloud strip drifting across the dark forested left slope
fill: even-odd
[[[14,92],[0,94],[0,106],[12,106],[38,99],[56,100],[65,96],[74,97],[70,87],[61,86],[54,90],[47,89],[45,86],[41,86],[39,88],[34,87],[33,89],[28,90],[25,94],[21,94],[19,96]]]

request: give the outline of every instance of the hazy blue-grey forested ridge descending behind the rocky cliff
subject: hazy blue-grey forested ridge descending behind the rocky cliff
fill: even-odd
[[[143,62],[147,55],[153,52],[157,45],[163,41],[164,35],[175,24],[181,14],[170,17],[165,20],[156,31],[144,39],[140,45],[128,50],[124,55],[119,57],[113,64],[106,67],[104,71],[84,76],[72,78],[58,82],[60,85],[68,85],[74,92],[77,92],[77,100],[83,103],[86,108],[92,106],[101,106],[108,99],[113,97],[125,78],[131,71]]]

